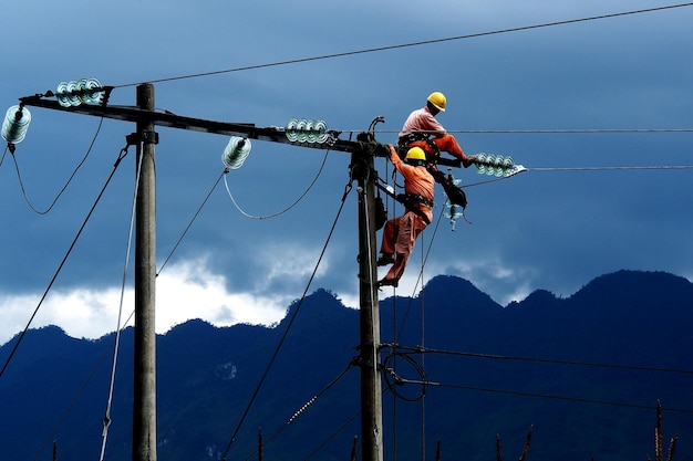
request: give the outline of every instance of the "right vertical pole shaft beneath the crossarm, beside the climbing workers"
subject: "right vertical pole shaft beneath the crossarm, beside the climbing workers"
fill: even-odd
[[[361,155],[359,155],[361,154]],[[352,160],[359,190],[359,275],[361,327],[361,433],[363,461],[383,460],[383,411],[380,370],[380,314],[372,153]]]

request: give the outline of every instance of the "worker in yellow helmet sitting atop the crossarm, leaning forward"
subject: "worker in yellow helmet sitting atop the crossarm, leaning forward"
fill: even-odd
[[[467,158],[457,139],[448,134],[435,118],[438,113],[445,112],[446,104],[447,98],[443,93],[431,93],[425,107],[412,112],[404,122],[397,146],[404,150],[421,147],[428,156],[428,160],[432,155],[445,151],[459,159],[467,168],[473,164],[473,159]]]

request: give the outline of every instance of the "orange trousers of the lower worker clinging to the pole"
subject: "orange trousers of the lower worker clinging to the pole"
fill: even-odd
[[[426,221],[414,211],[406,211],[385,222],[380,252],[394,255],[394,264],[384,280],[400,280],[414,250],[414,242],[426,226]]]

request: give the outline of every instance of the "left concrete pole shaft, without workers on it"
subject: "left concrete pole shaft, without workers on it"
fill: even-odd
[[[137,107],[154,111],[154,86],[137,86]],[[156,174],[154,124],[137,122],[133,461],[156,461]]]

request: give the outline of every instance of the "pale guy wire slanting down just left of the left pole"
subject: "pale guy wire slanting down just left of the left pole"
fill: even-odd
[[[125,151],[127,151],[127,147],[125,147]],[[139,150],[143,151],[143,143],[141,142]],[[135,227],[135,211],[137,208],[137,195],[139,191],[139,176],[142,174],[142,160],[144,158],[143,155],[138,156],[139,161],[137,164],[137,175],[135,178],[135,190],[133,192],[133,202],[131,207],[130,213],[130,228],[127,231],[127,245],[125,250],[125,262],[123,264],[123,277],[121,281],[121,300],[118,305],[118,315],[117,315],[117,324],[115,328],[115,345],[113,349],[113,365],[111,367],[111,381],[108,383],[108,398],[106,399],[106,410],[103,417],[103,431],[102,431],[102,443],[101,443],[101,455],[99,461],[103,461],[106,455],[106,442],[108,440],[108,428],[111,427],[111,407],[113,405],[113,394],[115,391],[115,370],[117,366],[120,344],[121,344],[121,333],[123,326],[121,325],[122,316],[123,316],[123,302],[125,300],[125,284],[127,282],[127,268],[130,266],[130,254],[133,242],[134,227]]]

